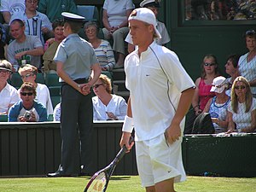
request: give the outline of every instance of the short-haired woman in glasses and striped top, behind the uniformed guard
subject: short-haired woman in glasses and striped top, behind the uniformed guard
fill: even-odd
[[[89,21],[84,25],[84,32],[92,45],[96,57],[102,67],[102,71],[112,71],[115,60],[113,55],[113,49],[108,41],[97,37],[99,27],[96,22]]]

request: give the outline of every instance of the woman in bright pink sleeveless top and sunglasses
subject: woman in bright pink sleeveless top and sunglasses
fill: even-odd
[[[216,56],[206,55],[201,63],[201,68],[201,77],[195,80],[196,88],[192,101],[196,116],[204,110],[208,100],[215,96],[210,90],[212,89],[212,80],[219,75]]]

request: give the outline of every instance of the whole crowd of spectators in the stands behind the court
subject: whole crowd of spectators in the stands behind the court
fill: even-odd
[[[201,4],[188,3],[187,10],[190,9],[191,12],[190,18],[187,19],[238,20],[241,19],[239,15],[246,15],[247,19],[255,18],[254,9],[250,9],[255,6],[253,1],[249,1],[247,4],[236,1],[229,2],[213,0],[201,1]],[[159,3],[160,1],[143,1],[140,6],[151,9],[157,16]],[[134,8],[135,5],[131,0],[105,1],[101,18],[103,28],[100,29],[98,22],[95,21],[85,23],[86,39],[94,48],[102,71],[111,72],[113,68],[123,67],[125,55],[136,49],[132,46],[127,20]],[[65,38],[64,22],[61,16],[63,11],[77,13],[73,0],[1,1],[4,23],[0,25],[0,94],[1,97],[5,96],[5,99],[1,101],[0,113],[8,114],[12,105],[17,106],[17,103],[23,103],[27,99],[30,100],[30,104],[42,103],[47,112],[46,119],[49,119],[51,115],[54,115],[55,120],[60,119],[60,113],[54,114],[49,89],[45,84],[38,84],[36,79],[38,73],[56,73],[56,64],[53,58],[59,44]],[[164,46],[170,41],[166,26],[158,21],[157,28],[162,36],[157,44]],[[102,38],[99,38],[100,30],[102,30]],[[125,41],[129,43],[128,48]],[[201,76],[195,80],[196,90],[192,102],[192,110],[195,111],[194,119],[201,113],[210,113],[216,133],[248,132],[255,131],[256,128],[253,117],[255,115],[253,103],[256,97],[255,31],[250,30],[245,33],[245,42],[248,49],[245,55],[229,55],[227,58],[224,66],[227,79],[220,76],[217,56],[208,54],[201,62]],[[8,80],[12,73],[20,73],[24,84],[30,83],[26,84],[24,92],[21,91],[24,84],[19,91],[9,84]],[[92,99],[95,120],[122,120],[125,116],[126,102],[124,98],[113,94],[112,83],[109,81],[108,77],[101,75],[93,85],[92,90],[96,95]],[[234,83],[238,85],[234,85]],[[30,86],[33,88],[29,88]],[[28,90],[32,92],[32,95],[29,95],[31,93],[28,93]],[[25,94],[25,92],[27,93]],[[244,98],[239,94],[243,94]],[[252,96],[251,101],[248,101],[250,100],[248,96]],[[238,104],[234,103],[235,100]],[[247,103],[250,103],[251,108],[247,107]],[[58,104],[55,111],[60,111],[60,106],[61,104]],[[119,108],[119,110],[115,108]],[[241,126],[243,124],[240,124],[236,118],[237,110],[240,118],[243,117],[241,113],[245,113],[244,120],[250,121],[250,125]],[[22,109],[22,113],[26,111],[28,111],[27,108]],[[37,116],[38,113],[35,113],[36,111],[32,110],[32,119],[29,121],[39,121],[40,118]],[[16,119],[25,121],[20,116],[22,116],[21,113]],[[12,118],[12,120],[14,119]]]

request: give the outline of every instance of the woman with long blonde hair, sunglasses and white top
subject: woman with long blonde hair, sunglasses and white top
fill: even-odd
[[[256,99],[250,84],[242,76],[235,79],[228,108],[229,131],[253,132],[256,129]]]

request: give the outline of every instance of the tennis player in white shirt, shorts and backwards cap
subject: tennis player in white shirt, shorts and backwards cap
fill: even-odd
[[[125,58],[125,85],[130,90],[120,146],[131,149],[136,133],[137,169],[147,192],[171,192],[184,181],[181,143],[184,116],[195,84],[177,55],[155,43],[160,38],[154,13],[135,9],[129,16],[131,38],[138,48]]]

